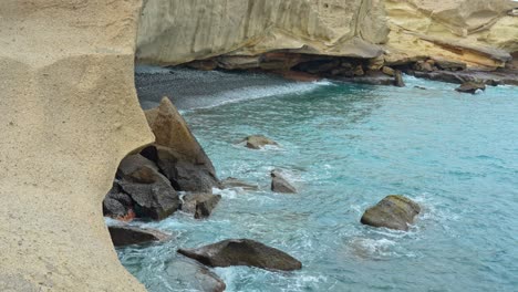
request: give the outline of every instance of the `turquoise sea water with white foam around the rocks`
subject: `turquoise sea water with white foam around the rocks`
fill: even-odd
[[[176,239],[120,249],[121,261],[149,291],[189,291],[165,273],[177,248],[251,238],[303,269],[215,269],[227,291],[516,291],[518,87],[467,95],[454,84],[405,81],[404,88],[276,83],[273,91],[291,90],[268,94],[265,85],[262,95],[184,108],[219,176],[261,190],[220,191],[208,220],[177,212],[146,223]],[[281,147],[236,145],[250,134]],[[268,190],[274,167],[290,173],[299,194]],[[410,232],[360,225],[363,210],[390,194],[421,204]]]

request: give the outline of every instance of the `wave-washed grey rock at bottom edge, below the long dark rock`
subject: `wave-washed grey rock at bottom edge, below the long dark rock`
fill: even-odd
[[[225,282],[209,269],[186,260],[174,260],[167,263],[166,273],[177,279],[177,284],[188,291],[222,292]]]

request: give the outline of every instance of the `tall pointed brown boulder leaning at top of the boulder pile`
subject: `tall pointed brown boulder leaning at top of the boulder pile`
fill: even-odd
[[[169,98],[146,111],[146,117],[156,142],[143,155],[158,165],[175,189],[211,192],[219,185],[213,163]]]

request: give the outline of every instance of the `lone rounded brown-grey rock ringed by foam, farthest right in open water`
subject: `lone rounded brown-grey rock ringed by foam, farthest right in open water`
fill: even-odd
[[[361,222],[373,227],[386,227],[396,230],[408,230],[414,217],[421,212],[421,207],[411,199],[391,195],[376,206],[369,208],[362,216]]]

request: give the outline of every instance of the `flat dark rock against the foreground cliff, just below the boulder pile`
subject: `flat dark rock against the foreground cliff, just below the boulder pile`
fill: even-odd
[[[155,241],[165,241],[169,234],[154,229],[144,229],[132,226],[108,226],[113,246],[124,247],[131,244],[145,244]]]

